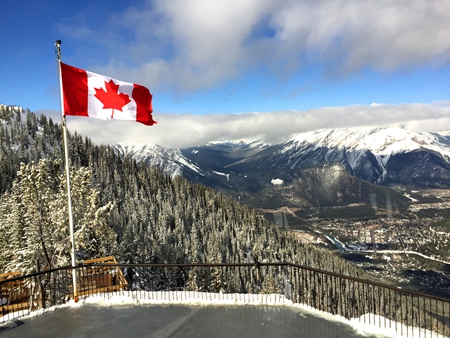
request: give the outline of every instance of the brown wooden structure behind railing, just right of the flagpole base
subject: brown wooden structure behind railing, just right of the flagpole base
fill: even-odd
[[[117,262],[114,256],[85,260],[83,265],[88,266],[80,271],[78,295],[127,290],[128,283],[122,270],[115,264]]]

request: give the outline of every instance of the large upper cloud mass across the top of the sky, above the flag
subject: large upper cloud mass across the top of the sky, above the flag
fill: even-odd
[[[111,55],[93,71],[189,92],[261,67],[286,78],[318,64],[331,76],[444,66],[448,8],[449,0],[158,0],[95,23],[103,29],[57,27]]]

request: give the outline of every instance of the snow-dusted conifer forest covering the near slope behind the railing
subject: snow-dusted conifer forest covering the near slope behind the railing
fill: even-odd
[[[107,122],[105,122],[107,123]],[[234,199],[118,157],[69,134],[77,259],[122,263],[292,262],[362,277]],[[62,130],[44,115],[0,105],[0,272],[68,265]]]

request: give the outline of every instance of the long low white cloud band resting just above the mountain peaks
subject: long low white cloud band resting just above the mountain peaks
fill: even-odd
[[[239,139],[263,139],[277,143],[297,133],[329,128],[401,126],[411,131],[450,130],[450,107],[429,104],[379,104],[203,116],[153,115],[158,123],[152,127],[128,121],[72,116],[67,117],[67,123],[69,130],[88,136],[96,143],[133,142],[158,144],[166,148],[185,148],[210,141]],[[52,118],[59,121],[57,114]]]

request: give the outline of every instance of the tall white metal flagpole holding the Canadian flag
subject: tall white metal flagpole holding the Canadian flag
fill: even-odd
[[[77,287],[77,274],[76,274],[76,259],[75,259],[75,235],[73,230],[73,217],[72,217],[72,197],[70,194],[70,168],[69,168],[69,152],[67,147],[67,126],[66,126],[66,116],[64,115],[64,99],[63,99],[63,88],[62,88],[62,76],[61,76],[61,40],[56,40],[55,42],[55,52],[57,58],[58,66],[58,76],[59,76],[59,101],[61,108],[61,124],[63,127],[63,137],[64,137],[64,158],[66,167],[66,183],[67,183],[67,208],[69,210],[69,229],[70,229],[70,243],[71,243],[71,256],[72,256],[72,282],[73,282],[73,299],[78,302],[78,287]]]

